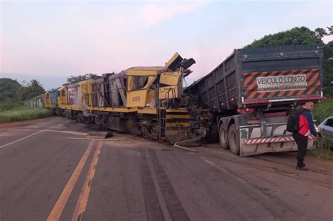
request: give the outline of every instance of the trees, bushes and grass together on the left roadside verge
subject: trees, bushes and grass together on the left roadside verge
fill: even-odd
[[[23,105],[23,100],[34,98],[42,93],[45,93],[45,90],[37,80],[21,85],[13,79],[0,79],[0,123],[51,116],[51,112],[47,109],[31,109]]]

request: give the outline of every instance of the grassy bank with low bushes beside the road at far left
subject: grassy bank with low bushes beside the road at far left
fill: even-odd
[[[48,109],[32,109],[21,102],[0,102],[0,123],[26,121],[52,116]]]

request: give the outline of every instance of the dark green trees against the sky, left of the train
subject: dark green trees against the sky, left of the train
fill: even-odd
[[[22,85],[17,80],[0,79],[0,102],[2,105],[11,106],[11,103],[29,100],[45,92],[43,86],[37,80],[31,80],[29,83]]]

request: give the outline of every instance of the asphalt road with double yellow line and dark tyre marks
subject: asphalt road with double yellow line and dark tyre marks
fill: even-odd
[[[0,220],[332,220],[333,164],[86,138],[51,117],[0,125]],[[310,163],[310,165],[309,165]]]

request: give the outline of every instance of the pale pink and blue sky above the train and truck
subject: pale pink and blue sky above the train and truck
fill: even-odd
[[[72,75],[164,66],[178,52],[197,62],[190,84],[267,34],[333,25],[332,2],[0,0],[0,78],[49,90]]]

